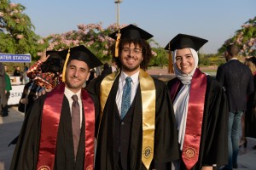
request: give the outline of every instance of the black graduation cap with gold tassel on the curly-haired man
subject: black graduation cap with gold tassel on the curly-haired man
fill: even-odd
[[[143,29],[131,24],[129,26],[125,26],[124,28],[120,29],[119,31],[113,32],[112,34],[109,35],[109,37],[116,39],[115,57],[118,57],[118,55],[119,55],[119,40],[120,39],[148,40],[149,38],[153,37],[153,35],[151,35],[147,31],[144,31]]]

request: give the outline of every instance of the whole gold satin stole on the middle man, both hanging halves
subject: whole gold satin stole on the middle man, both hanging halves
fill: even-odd
[[[119,75],[119,71],[105,77],[100,87],[101,115],[102,122],[103,111],[108,99],[108,94],[113,86],[113,82]],[[149,169],[154,157],[154,129],[155,129],[155,87],[154,80],[147,72],[140,70],[139,82],[142,93],[143,103],[143,149],[142,161],[144,166]]]

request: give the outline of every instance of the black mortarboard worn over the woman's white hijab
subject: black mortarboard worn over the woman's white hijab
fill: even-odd
[[[166,50],[174,51],[175,49],[193,48],[198,51],[208,40],[201,37],[189,36],[186,34],[177,34],[176,37],[166,45]]]

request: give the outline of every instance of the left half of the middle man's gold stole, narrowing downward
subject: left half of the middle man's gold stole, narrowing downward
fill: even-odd
[[[101,127],[101,122],[102,122],[102,116],[103,116],[103,111],[108,99],[108,95],[110,93],[110,90],[113,86],[113,81],[116,79],[116,77],[119,75],[119,71],[115,71],[112,74],[108,75],[102,80],[101,87],[100,87],[100,102],[101,102],[101,114],[100,114],[100,124],[98,128],[98,133],[97,133],[97,139]]]

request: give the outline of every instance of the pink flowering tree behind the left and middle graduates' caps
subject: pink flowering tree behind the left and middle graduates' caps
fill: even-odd
[[[120,26],[124,27],[126,25]],[[89,48],[99,59],[104,61],[111,59],[111,49],[113,45],[112,38],[108,37],[113,31],[117,30],[115,24],[102,27],[99,24],[81,24],[78,26],[77,31],[68,31],[61,34],[51,34],[38,41],[40,44],[47,44],[47,50],[61,50],[65,48],[84,45]],[[39,55],[39,53],[38,53]]]

